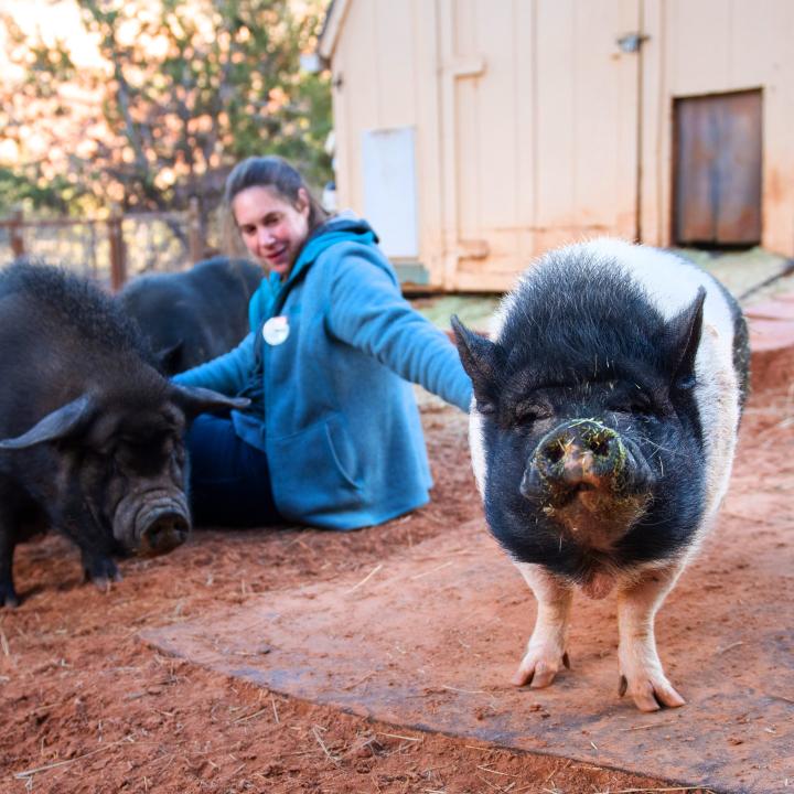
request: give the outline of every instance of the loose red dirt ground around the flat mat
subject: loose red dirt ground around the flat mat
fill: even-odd
[[[780,516],[790,518],[793,396],[770,388],[769,372],[765,380],[745,414],[737,473],[776,479]],[[140,640],[142,630],[254,596],[356,571],[364,577],[389,556],[480,515],[465,417],[430,406],[423,423],[433,501],[382,527],[198,530],[168,557],[124,562],[125,581],[107,593],[82,582],[77,552],[64,539],[21,547],[15,577],[24,601],[0,613],[0,792],[664,790],[661,781],[400,730],[272,695],[159,655]],[[779,453],[766,457],[770,446]],[[709,586],[719,578],[716,571]]]

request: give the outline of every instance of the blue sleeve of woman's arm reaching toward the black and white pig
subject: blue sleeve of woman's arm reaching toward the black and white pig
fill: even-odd
[[[458,350],[405,300],[389,273],[365,255],[348,255],[336,262],[328,322],[337,339],[469,410],[472,385]]]

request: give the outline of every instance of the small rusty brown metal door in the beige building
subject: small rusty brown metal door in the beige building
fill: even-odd
[[[679,245],[760,243],[761,109],[760,90],[676,100]]]

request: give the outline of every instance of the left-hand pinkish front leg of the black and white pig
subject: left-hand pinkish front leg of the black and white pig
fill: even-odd
[[[516,562],[516,567],[535,593],[538,612],[512,683],[515,686],[530,684],[534,689],[540,689],[551,684],[562,665],[570,667],[566,645],[573,590],[541,566]]]

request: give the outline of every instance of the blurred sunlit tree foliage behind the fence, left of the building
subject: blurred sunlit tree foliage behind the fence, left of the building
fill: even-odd
[[[9,184],[54,206],[135,212],[184,208],[193,195],[211,207],[230,165],[254,153],[290,159],[315,185],[328,179],[329,76],[299,66],[320,0],[300,13],[289,0],[77,2],[101,54],[94,68],[6,18],[24,75],[0,111],[20,160],[0,163]]]

